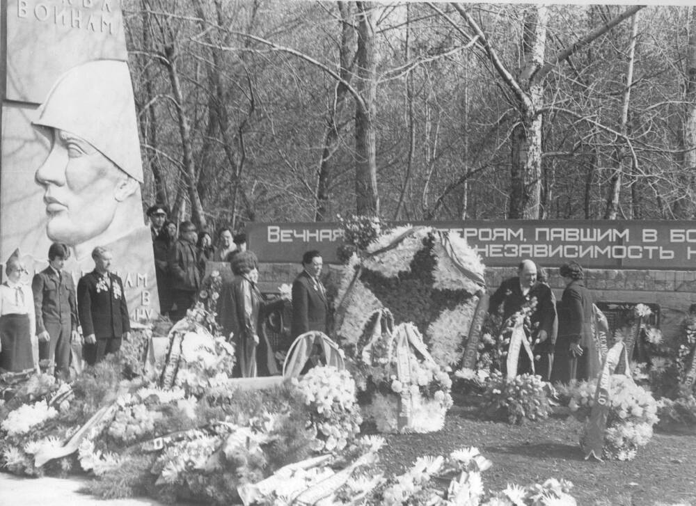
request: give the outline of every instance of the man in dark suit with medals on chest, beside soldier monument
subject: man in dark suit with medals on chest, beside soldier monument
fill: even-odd
[[[92,251],[95,269],[77,283],[77,310],[85,336],[84,358],[89,365],[116,353],[130,332],[123,283],[111,274],[111,251],[97,246]]]

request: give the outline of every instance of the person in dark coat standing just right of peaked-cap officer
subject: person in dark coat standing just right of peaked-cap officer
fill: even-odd
[[[167,255],[173,303],[176,305],[176,310],[170,313],[174,320],[185,317],[187,310],[196,302],[203,279],[196,248],[196,226],[190,221],[182,221],[179,236]]]

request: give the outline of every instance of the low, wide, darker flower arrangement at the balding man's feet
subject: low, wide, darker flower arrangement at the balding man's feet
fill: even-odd
[[[546,392],[547,384],[541,376],[521,374],[508,378],[493,371],[483,394],[482,409],[487,416],[505,419],[509,423],[542,420],[551,412]]]

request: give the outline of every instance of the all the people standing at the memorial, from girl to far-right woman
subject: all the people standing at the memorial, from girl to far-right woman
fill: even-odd
[[[186,316],[198,299],[207,262],[229,262],[233,276],[219,294],[219,324],[237,349],[237,376],[278,374],[274,349],[264,322],[270,311],[292,300],[290,338],[308,331],[327,333],[329,302],[321,275],[322,255],[308,251],[292,294],[267,300],[258,288],[258,259],[246,248],[246,235],[222,228],[216,235],[196,229],[191,221],[177,227],[167,219],[167,209],[148,209],[155,256],[161,314],[173,321]],[[75,287],[63,270],[70,257],[68,245],[49,247],[48,267],[33,276],[31,287],[22,283],[29,274],[15,253],[6,262],[6,281],[0,285],[0,369],[38,370],[40,361],[56,376],[69,377],[71,361],[89,365],[120,349],[130,331],[129,312],[122,280],[111,272],[113,253],[102,246],[92,252],[93,271]],[[517,373],[540,374],[547,381],[587,379],[599,369],[593,339],[592,294],[583,282],[583,268],[569,262],[560,268],[566,283],[556,303],[544,272],[523,260],[518,275],[491,295],[489,313],[511,321],[525,310],[524,326],[533,353],[519,353]],[[291,299],[292,297],[292,299]],[[79,332],[81,329],[81,332]],[[503,369],[507,363],[503,363]]]

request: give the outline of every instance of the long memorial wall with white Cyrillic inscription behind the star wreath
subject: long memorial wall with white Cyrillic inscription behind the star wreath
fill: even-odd
[[[402,222],[400,224],[405,224]],[[516,266],[531,258],[548,270],[548,283],[560,299],[564,282],[557,267],[576,260],[585,267],[585,284],[611,314],[636,303],[649,304],[667,336],[696,304],[696,222],[603,220],[466,220],[414,222],[464,235],[486,265],[486,284],[495,290]],[[252,223],[249,248],[257,253],[260,286],[275,292],[301,270],[302,253],[322,252],[329,264],[327,283],[336,279],[337,250],[343,244],[338,223]],[[333,264],[333,265],[332,265]]]

